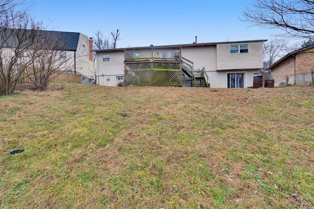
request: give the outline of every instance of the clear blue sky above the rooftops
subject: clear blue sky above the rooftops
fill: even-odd
[[[120,47],[270,39],[279,30],[249,27],[239,17],[252,0],[26,0],[48,29],[109,35]]]

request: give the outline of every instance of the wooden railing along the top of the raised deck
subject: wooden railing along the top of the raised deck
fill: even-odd
[[[182,60],[181,48],[126,49],[124,60],[125,61]]]

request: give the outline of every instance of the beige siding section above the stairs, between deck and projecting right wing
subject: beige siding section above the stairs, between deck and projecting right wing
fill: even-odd
[[[216,46],[183,47],[182,56],[194,63],[194,69],[216,70]]]

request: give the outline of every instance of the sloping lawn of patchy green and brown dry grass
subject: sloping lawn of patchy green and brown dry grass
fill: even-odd
[[[306,209],[313,172],[314,86],[0,97],[0,208]]]

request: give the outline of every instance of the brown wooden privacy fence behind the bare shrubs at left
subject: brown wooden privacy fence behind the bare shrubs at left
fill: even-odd
[[[52,83],[81,83],[80,75],[75,75],[71,73],[54,73],[51,76]],[[31,80],[28,77],[25,77],[21,80],[22,83],[30,83]]]

